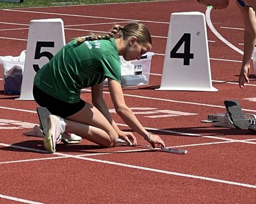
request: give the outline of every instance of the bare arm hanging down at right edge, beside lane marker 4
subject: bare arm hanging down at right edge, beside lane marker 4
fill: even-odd
[[[238,2],[237,6],[243,16],[244,21],[244,56],[239,75],[240,88],[249,83],[250,62],[256,41],[256,18],[252,8],[242,7]]]

